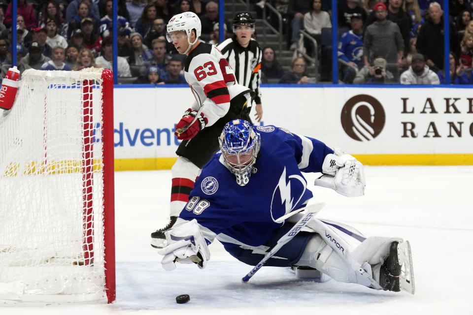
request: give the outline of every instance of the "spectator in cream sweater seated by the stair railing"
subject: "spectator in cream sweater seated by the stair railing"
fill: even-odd
[[[330,15],[322,11],[322,0],[313,0],[312,10],[304,14],[304,29],[312,37],[315,38],[317,44],[320,45],[320,37],[323,28],[332,28]],[[313,51],[313,43],[305,41],[305,47],[308,48],[308,54]]]

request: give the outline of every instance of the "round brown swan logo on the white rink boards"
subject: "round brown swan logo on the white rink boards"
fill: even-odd
[[[355,95],[341,110],[341,126],[350,138],[373,140],[381,133],[386,121],[381,103],[370,95]]]

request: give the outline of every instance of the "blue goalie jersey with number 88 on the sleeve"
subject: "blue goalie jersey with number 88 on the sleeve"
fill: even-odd
[[[202,169],[179,218],[196,219],[208,243],[215,237],[234,254],[265,244],[284,223],[275,220],[312,197],[302,172],[321,172],[332,149],[275,126],[253,126],[261,135],[260,154],[245,186],[236,184],[221,153]]]

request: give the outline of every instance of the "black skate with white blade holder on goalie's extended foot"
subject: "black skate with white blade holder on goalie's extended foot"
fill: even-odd
[[[389,256],[379,269],[379,285],[385,291],[405,290],[414,294],[412,255],[408,241],[391,243]]]

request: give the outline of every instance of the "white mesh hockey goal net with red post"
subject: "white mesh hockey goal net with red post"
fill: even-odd
[[[113,198],[111,71],[26,70],[0,113],[0,300],[112,302]]]

